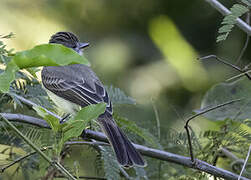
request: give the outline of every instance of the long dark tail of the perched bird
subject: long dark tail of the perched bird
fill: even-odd
[[[98,121],[113,147],[118,162],[122,166],[145,166],[145,162],[139,152],[119,129],[111,116],[99,117]]]

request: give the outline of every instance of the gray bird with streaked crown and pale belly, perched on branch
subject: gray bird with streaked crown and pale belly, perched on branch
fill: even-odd
[[[72,32],[57,32],[51,36],[50,44],[61,44],[79,55],[89,43],[82,43]],[[74,114],[91,104],[106,103],[103,114],[97,118],[98,124],[108,138],[117,161],[123,167],[146,164],[124,132],[113,119],[112,103],[109,95],[95,72],[87,65],[45,66],[41,72],[42,84],[48,96],[63,111]]]

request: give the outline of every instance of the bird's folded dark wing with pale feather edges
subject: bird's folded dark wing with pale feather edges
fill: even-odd
[[[104,86],[93,80],[92,82],[84,79],[78,81],[66,81],[57,77],[42,77],[43,85],[54,94],[85,107],[90,104],[105,102],[106,111],[112,114],[112,105]],[[90,83],[92,83],[90,85]]]

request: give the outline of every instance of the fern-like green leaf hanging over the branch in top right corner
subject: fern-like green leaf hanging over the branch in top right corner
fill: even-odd
[[[242,2],[250,6],[250,1],[242,0]],[[218,30],[219,36],[217,37],[216,42],[220,42],[226,40],[229,33],[232,31],[234,25],[236,24],[236,19],[248,12],[248,8],[241,4],[234,4],[233,7],[230,9],[231,14],[224,17],[221,26]]]

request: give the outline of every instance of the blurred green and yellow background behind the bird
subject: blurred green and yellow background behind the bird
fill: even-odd
[[[47,43],[58,31],[89,42],[84,54],[104,84],[137,101],[117,107],[119,113],[156,135],[157,110],[162,139],[170,129],[184,131],[205,92],[236,73],[197,58],[216,54],[235,62],[245,41],[235,28],[215,43],[222,16],[203,0],[1,0],[0,12],[0,33],[15,34],[6,41],[15,51]],[[191,125],[199,132],[210,122],[198,118]]]

